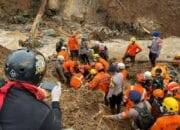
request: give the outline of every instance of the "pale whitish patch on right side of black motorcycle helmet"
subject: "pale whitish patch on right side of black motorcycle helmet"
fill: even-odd
[[[45,70],[45,60],[44,60],[44,57],[41,56],[41,55],[37,55],[36,56],[36,74],[37,73],[41,73]]]

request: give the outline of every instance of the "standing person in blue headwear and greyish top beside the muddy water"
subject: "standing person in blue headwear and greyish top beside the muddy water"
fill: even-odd
[[[152,67],[154,67],[156,65],[156,59],[160,55],[160,50],[161,50],[163,41],[160,38],[160,32],[153,32],[152,36],[153,36],[152,44],[148,46],[148,48],[150,49],[149,60],[151,62]]]

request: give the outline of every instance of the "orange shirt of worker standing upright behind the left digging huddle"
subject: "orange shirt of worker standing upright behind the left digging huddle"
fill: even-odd
[[[79,50],[79,43],[75,36],[69,37],[68,48],[70,51],[71,50]]]

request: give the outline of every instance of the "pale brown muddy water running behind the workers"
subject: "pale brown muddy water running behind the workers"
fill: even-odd
[[[0,45],[15,50],[20,48],[18,45],[19,39],[26,39],[27,34],[19,31],[4,31],[0,29]],[[38,50],[41,51],[46,57],[55,53],[55,44],[59,40],[59,37],[42,36],[40,41],[43,43],[43,47]],[[94,41],[92,41],[94,42]],[[92,43],[91,42],[91,43]],[[148,60],[149,50],[148,45],[151,44],[151,40],[139,40],[138,44],[143,48],[143,51],[137,55],[137,60]],[[120,59],[128,46],[128,41],[122,39],[112,39],[104,42],[109,48],[110,57],[117,57]],[[161,54],[159,60],[171,61],[175,54],[180,53],[180,38],[169,37],[164,39]]]

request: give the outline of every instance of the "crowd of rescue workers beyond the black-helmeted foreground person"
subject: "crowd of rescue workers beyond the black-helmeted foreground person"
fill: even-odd
[[[68,39],[67,44],[60,41],[61,44],[56,46],[59,48],[56,49],[59,80],[74,89],[85,85],[102,91],[105,104],[112,112],[103,118],[130,118],[134,128],[143,130],[180,128],[180,85],[173,74],[169,74],[167,79],[163,76],[164,70],[156,66],[163,44],[159,32],[152,34],[152,44],[148,46],[152,71],[137,73],[136,82],[130,86],[124,85],[131,75],[126,67],[127,58],[133,66],[136,55],[143,51],[135,37],[130,39],[121,61],[109,59],[108,49],[103,43],[95,42],[89,46],[85,38],[79,43],[77,33]]]

